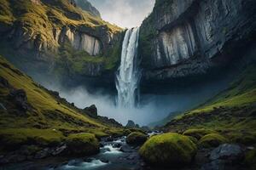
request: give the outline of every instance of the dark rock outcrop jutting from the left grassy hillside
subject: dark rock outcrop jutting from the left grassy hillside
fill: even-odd
[[[27,111],[29,109],[25,90],[12,90],[9,94],[9,97],[14,99],[15,104],[20,108],[20,110]]]

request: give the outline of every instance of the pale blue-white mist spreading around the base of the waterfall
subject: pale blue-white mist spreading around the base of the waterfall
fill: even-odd
[[[40,81],[42,82],[42,81]],[[111,94],[105,89],[95,90],[90,93],[86,87],[63,88],[60,84],[42,85],[51,90],[58,91],[62,98],[74,103],[77,107],[84,109],[90,105],[96,105],[98,115],[114,118],[125,125],[132,120],[139,125],[148,125],[150,122],[158,122],[174,111],[186,111],[227,87],[230,81],[227,78],[218,81],[201,83],[201,86],[190,86],[189,88],[176,90],[164,94],[141,94],[140,105],[136,107],[121,107],[116,105],[117,94]]]

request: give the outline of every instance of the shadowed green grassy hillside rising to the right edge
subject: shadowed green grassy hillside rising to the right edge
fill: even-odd
[[[230,88],[167,123],[166,131],[210,129],[233,142],[256,143],[256,67],[247,65]]]

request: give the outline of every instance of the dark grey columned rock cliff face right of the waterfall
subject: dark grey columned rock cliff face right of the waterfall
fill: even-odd
[[[204,74],[236,57],[255,38],[255,3],[157,0],[141,27],[143,79]]]

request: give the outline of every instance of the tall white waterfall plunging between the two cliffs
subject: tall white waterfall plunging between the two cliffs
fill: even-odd
[[[117,104],[122,107],[136,106],[139,101],[138,86],[142,71],[137,56],[138,37],[139,27],[125,32],[121,63],[116,74]]]

